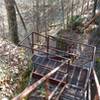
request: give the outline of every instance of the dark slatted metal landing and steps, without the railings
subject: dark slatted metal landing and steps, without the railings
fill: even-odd
[[[63,62],[62,60],[54,58],[57,57],[34,55],[32,57],[33,66],[35,67],[33,71],[33,79],[37,78],[38,80],[42,78]],[[67,77],[63,79],[65,74],[67,74]],[[89,70],[86,68],[65,64],[49,78],[50,83],[48,89],[51,93],[54,91],[55,87],[58,86],[58,89],[53,94],[52,100],[56,99],[61,91],[62,93],[60,93],[58,97],[59,100],[82,100],[88,75]],[[62,83],[60,84],[60,82]]]

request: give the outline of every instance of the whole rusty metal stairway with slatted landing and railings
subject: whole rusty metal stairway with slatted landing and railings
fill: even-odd
[[[77,46],[83,46],[88,50],[88,52],[92,52],[91,56],[87,56],[87,52],[83,52],[80,49],[81,55],[77,55],[73,52],[66,50],[57,49],[56,46],[51,47],[51,42],[56,44],[59,38],[52,36],[42,36],[47,41],[44,44],[35,44],[34,43],[34,34],[42,36],[38,33],[32,33],[32,48],[28,46],[24,46],[25,48],[31,49],[32,56],[32,74],[31,79],[32,82],[28,88],[26,88],[19,96],[16,98],[22,98],[27,95],[30,95],[30,100],[35,100],[35,97],[40,97],[38,95],[39,86],[41,84],[45,84],[45,97],[42,99],[47,100],[84,100],[85,92],[87,91],[87,85],[91,74],[91,69],[94,62],[95,56],[95,47],[85,45],[82,43],[75,43],[75,41],[71,42],[69,45],[73,45],[75,43],[75,48],[71,48],[73,50],[77,50]],[[62,39],[68,45],[66,39]],[[23,41],[22,41],[23,42]],[[22,45],[21,42],[21,45]],[[56,42],[56,43],[55,43]],[[36,47],[35,47],[36,45]],[[67,56],[66,56],[67,55]],[[84,57],[82,56],[84,55]],[[75,63],[74,63],[74,60]],[[82,63],[78,64],[78,63]],[[71,63],[72,62],[72,63]],[[76,63],[78,62],[78,63]],[[90,63],[89,67],[85,64],[87,62]],[[19,99],[13,100],[19,100]],[[40,100],[42,100],[40,99]]]

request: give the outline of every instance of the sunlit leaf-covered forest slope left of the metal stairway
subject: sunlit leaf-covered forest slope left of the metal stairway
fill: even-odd
[[[13,97],[26,87],[27,82],[24,78],[30,74],[28,65],[29,60],[23,48],[0,38],[0,100]],[[23,88],[22,82],[25,86]]]

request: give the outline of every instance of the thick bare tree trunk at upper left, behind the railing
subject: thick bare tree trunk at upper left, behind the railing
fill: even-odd
[[[8,16],[8,25],[9,25],[9,34],[10,39],[15,44],[18,44],[18,27],[17,27],[17,19],[16,19],[16,11],[14,8],[14,1],[13,0],[4,0],[7,16]]]

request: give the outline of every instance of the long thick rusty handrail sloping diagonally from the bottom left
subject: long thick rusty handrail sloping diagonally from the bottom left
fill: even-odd
[[[32,85],[28,86],[27,88],[25,88],[22,93],[20,93],[18,96],[16,96],[12,100],[22,100],[23,98],[25,98],[26,96],[28,96],[31,92],[35,91],[35,89],[41,83],[43,83],[47,78],[49,78],[51,75],[53,75],[54,73],[56,73],[64,64],[66,64],[66,62],[63,62],[60,66],[58,66],[57,68],[53,69],[50,73],[46,74],[40,80],[38,80],[34,84],[32,84]]]

